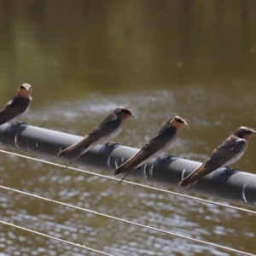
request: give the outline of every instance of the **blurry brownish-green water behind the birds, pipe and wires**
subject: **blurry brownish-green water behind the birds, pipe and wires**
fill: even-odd
[[[198,161],[238,126],[256,129],[255,0],[0,0],[0,55],[1,106],[20,84],[32,84],[22,119],[29,125],[84,136],[124,105],[136,119],[115,141],[141,148],[178,114],[189,127],[169,153]],[[255,172],[255,145],[256,137],[233,167]],[[256,253],[253,214],[5,154],[0,160],[1,184],[10,188]],[[236,255],[1,190],[1,220],[113,255]],[[4,256],[98,255],[0,230]]]

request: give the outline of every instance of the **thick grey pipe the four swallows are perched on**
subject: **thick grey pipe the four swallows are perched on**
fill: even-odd
[[[62,159],[66,163],[73,159],[74,154],[67,154],[59,158],[57,153],[76,143],[79,139],[81,139],[79,136],[26,124],[0,125],[0,143],[3,147],[58,160]],[[112,172],[137,151],[137,148],[128,148],[118,143],[108,143],[90,148],[76,162],[83,166]],[[163,183],[182,191],[181,188],[177,187],[177,183],[184,175],[187,176],[200,165],[199,162],[166,155],[164,158],[148,161],[139,170],[131,172],[131,176],[146,178],[150,182]],[[256,175],[252,173],[220,168],[202,178],[189,191],[256,207]]]

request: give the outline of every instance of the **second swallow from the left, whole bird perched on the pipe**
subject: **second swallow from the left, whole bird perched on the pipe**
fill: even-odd
[[[70,166],[73,161],[77,160],[82,154],[86,153],[90,148],[97,144],[104,144],[111,141],[114,137],[117,137],[123,129],[125,119],[134,117],[129,108],[120,106],[116,108],[113,113],[110,113],[106,119],[102,121],[100,125],[97,125],[95,129],[90,131],[84,136],[78,143],[74,143],[72,146],[62,150],[58,153],[58,156],[67,154],[70,152],[78,152],[77,156],[66,166]]]

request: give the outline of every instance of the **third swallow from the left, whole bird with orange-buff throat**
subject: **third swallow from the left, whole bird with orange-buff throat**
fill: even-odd
[[[126,177],[132,170],[143,166],[148,160],[165,154],[166,151],[174,147],[184,125],[188,126],[185,119],[179,116],[169,119],[166,125],[164,125],[137,154],[131,156],[123,165],[114,170],[113,175],[127,172],[125,174]],[[119,183],[121,183],[125,177],[123,177]]]

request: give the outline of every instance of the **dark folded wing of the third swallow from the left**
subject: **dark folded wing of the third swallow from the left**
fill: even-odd
[[[167,125],[167,123],[160,129],[157,134],[154,135],[154,137],[146,145],[143,146],[143,148],[139,152],[137,152],[137,154],[131,156],[131,158],[127,160],[123,165],[119,166],[116,170],[114,170],[113,175],[117,175],[126,171],[131,172],[133,169],[141,166],[140,164],[143,163],[145,160],[149,160],[150,157],[157,151],[159,151],[160,148],[163,148],[166,143],[170,142],[173,135],[175,134],[175,131],[172,130],[176,128]]]

